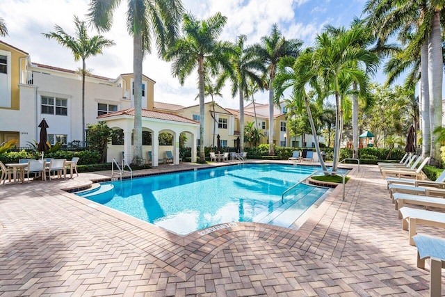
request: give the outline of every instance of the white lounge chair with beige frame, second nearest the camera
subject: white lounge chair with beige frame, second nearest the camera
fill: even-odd
[[[398,211],[402,215],[403,230],[408,230],[410,245],[415,246],[412,236],[416,235],[416,225],[445,228],[445,214],[425,209],[401,207]]]

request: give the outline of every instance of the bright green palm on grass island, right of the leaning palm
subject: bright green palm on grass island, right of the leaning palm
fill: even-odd
[[[323,81],[325,90],[334,94],[336,103],[333,171],[337,170],[339,162],[343,127],[342,95],[346,94],[346,88],[350,88],[353,81],[359,87],[359,94],[365,95],[366,73],[375,72],[378,66],[378,57],[375,54],[356,46],[356,40],[360,37],[361,35],[355,30],[346,31],[341,35],[323,32],[316,37],[313,55],[316,72]],[[365,70],[359,69],[361,64],[366,67]]]

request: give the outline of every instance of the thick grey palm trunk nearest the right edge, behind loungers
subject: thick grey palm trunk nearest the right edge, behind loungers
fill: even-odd
[[[437,11],[432,19],[432,29],[428,42],[428,90],[430,92],[430,127],[431,127],[431,161],[437,165],[442,163],[440,157],[441,144],[436,134],[437,127],[442,127],[442,36],[440,32],[440,15]]]

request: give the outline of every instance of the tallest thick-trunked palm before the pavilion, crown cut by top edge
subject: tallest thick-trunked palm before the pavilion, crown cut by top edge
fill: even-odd
[[[165,54],[179,30],[179,21],[183,13],[180,0],[128,0],[127,31],[133,36],[133,94],[134,94],[134,129],[133,160],[131,163],[143,163],[142,155],[142,62],[152,50],[152,37],[158,49],[158,55]],[[121,0],[91,0],[88,16],[99,31],[109,31],[113,24],[113,12]]]

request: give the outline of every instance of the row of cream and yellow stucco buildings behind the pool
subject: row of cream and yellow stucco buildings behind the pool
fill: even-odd
[[[38,124],[47,120],[48,141],[57,141],[67,145],[73,141],[83,142],[81,113],[81,76],[74,70],[67,70],[51,65],[33,63],[31,56],[12,45],[0,41],[0,143],[19,140],[19,147],[27,147],[29,142],[39,141]],[[205,134],[200,139],[200,106],[181,106],[156,102],[154,98],[155,81],[143,76],[143,122],[144,131],[152,133],[154,144],[143,147],[144,158],[152,152],[152,164],[158,163],[165,152],[175,154],[175,163],[179,162],[179,135],[186,134],[186,146],[196,147],[201,142],[205,146],[216,146],[216,136],[220,136],[221,146],[235,147],[236,138],[240,137],[239,111],[225,109],[218,104],[205,104]],[[133,74],[120,74],[117,78],[98,75],[86,77],[85,122],[93,124],[98,120],[107,122],[113,129],[122,129],[126,140],[124,145],[110,144],[108,161],[113,158],[120,161],[123,156],[131,159],[131,134],[133,108]],[[279,146],[300,146],[296,139],[286,138],[285,107],[275,108],[274,143]],[[255,117],[256,115],[256,117]],[[268,105],[251,103],[245,106],[245,125],[257,119],[260,129],[260,143],[268,142]],[[173,136],[171,145],[157,144],[156,135],[169,133]],[[308,136],[307,136],[308,137]],[[307,138],[308,139],[308,138]],[[245,143],[245,145],[249,145]],[[308,146],[310,143],[308,141]],[[193,158],[195,159],[195,158]]]

